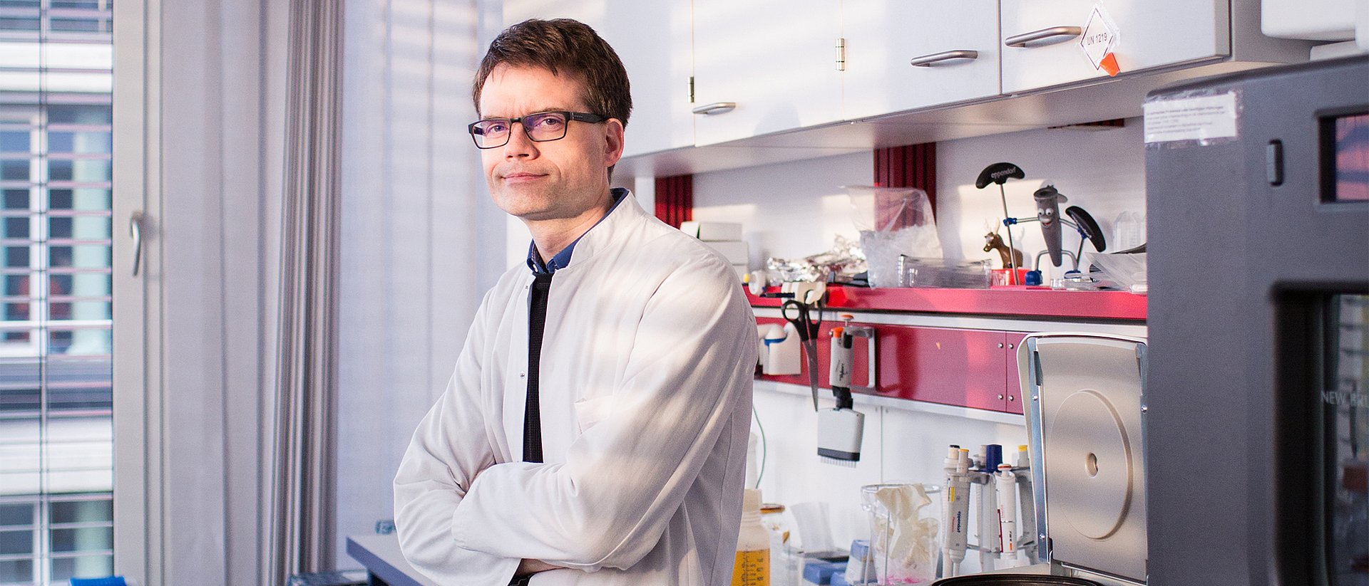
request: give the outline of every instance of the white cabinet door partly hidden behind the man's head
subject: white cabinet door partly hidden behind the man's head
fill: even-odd
[[[574,18],[613,46],[632,85],[624,157],[694,145],[690,0],[504,3],[505,26],[528,18]]]

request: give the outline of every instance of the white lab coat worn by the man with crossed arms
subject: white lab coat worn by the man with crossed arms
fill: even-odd
[[[524,463],[526,266],[486,295],[394,478],[404,556],[442,585],[727,585],[756,326],[737,273],[631,194],[552,279],[542,464]]]

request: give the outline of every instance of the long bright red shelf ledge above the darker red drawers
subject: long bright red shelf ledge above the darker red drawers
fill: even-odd
[[[756,307],[783,299],[746,292]],[[962,313],[976,316],[1146,320],[1146,296],[1124,291],[1058,291],[1047,287],[988,290],[828,287],[827,307],[852,310]]]

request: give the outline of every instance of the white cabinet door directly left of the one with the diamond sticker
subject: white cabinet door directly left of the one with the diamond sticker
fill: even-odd
[[[998,94],[998,0],[845,0],[842,12],[843,117]]]

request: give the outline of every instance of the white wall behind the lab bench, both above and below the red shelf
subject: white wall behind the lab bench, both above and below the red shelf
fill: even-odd
[[[983,251],[984,232],[1003,214],[998,190],[973,186],[980,169],[997,161],[1016,163],[1027,173],[1006,189],[1009,212],[1017,216],[1035,217],[1031,193],[1046,182],[1069,198],[1068,205],[1088,210],[1109,238],[1121,212],[1144,212],[1139,119],[1128,120],[1124,128],[1032,130],[947,141],[936,145],[936,220],[947,258],[998,258]],[[872,154],[861,153],[695,175],[694,219],[742,221],[753,268],[765,257],[816,254],[828,250],[838,234],[856,238],[852,209],[839,186],[869,184],[872,165]],[[1045,249],[1038,224],[1019,227],[1014,235],[1028,258]],[[1065,249],[1073,251],[1077,243],[1077,235],[1066,228]],[[861,407],[857,397],[857,408],[867,414],[865,444],[860,466],[843,469],[820,463],[812,402],[806,389],[793,391],[793,385],[757,384],[756,411],[768,447],[764,499],[827,501],[838,545],[868,531],[860,510],[861,485],[936,484],[947,444],[973,451],[997,443],[1005,452],[1016,452],[1027,440],[1020,423]],[[977,560],[969,556],[965,570],[973,568]]]

